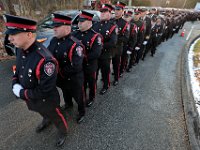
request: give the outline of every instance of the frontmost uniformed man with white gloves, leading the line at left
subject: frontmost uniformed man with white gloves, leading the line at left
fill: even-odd
[[[16,72],[12,90],[28,108],[38,112],[43,121],[36,128],[41,132],[52,122],[59,130],[56,146],[63,145],[67,123],[60,112],[60,97],[56,88],[57,61],[36,41],[36,22],[27,18],[5,15],[6,34],[17,48]]]

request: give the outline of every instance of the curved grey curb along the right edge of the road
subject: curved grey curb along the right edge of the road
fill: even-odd
[[[200,119],[198,111],[195,107],[194,97],[191,88],[189,66],[188,66],[188,50],[191,44],[197,40],[200,35],[188,41],[181,52],[181,95],[185,114],[186,129],[191,150],[200,150]]]

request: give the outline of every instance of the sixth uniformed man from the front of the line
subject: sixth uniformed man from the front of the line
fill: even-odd
[[[130,24],[130,35],[129,40],[127,44],[123,47],[123,53],[121,56],[121,66],[120,66],[120,76],[124,73],[126,70],[127,72],[130,72],[130,69],[132,68],[132,65],[135,62],[135,44],[137,42],[137,26],[132,20],[132,11],[125,11],[123,19],[126,20]],[[130,58],[128,60],[128,58]]]

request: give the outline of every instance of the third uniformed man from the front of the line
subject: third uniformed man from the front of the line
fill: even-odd
[[[92,29],[92,18],[94,14],[81,11],[79,15],[79,31],[73,33],[85,46],[85,59],[83,61],[84,70],[84,90],[86,96],[86,106],[90,107],[96,95],[96,72],[98,68],[98,58],[102,50],[102,36]],[[87,99],[87,87],[89,86],[89,98]]]

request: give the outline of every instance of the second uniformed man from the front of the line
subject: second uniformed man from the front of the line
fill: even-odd
[[[55,37],[51,40],[48,49],[59,62],[57,86],[62,89],[65,101],[62,109],[72,107],[72,98],[74,98],[79,112],[77,123],[81,123],[85,115],[82,89],[84,46],[71,35],[72,19],[70,17],[58,13],[52,15]]]

